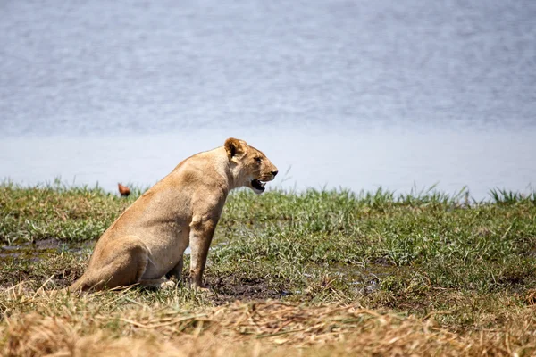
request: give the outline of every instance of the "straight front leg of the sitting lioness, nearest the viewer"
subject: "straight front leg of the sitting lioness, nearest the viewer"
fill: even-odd
[[[214,220],[194,217],[190,224],[190,276],[193,285],[196,287],[205,287],[203,285],[203,271],[205,270],[206,256],[214,236],[216,223]]]

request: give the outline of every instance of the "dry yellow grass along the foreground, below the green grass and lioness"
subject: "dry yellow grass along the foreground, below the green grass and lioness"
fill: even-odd
[[[355,304],[235,302],[188,311],[169,305],[125,305],[130,293],[77,297],[2,292],[0,351],[6,356],[536,353],[533,307],[518,311],[502,329],[455,333],[440,328],[431,317],[370,311]]]

